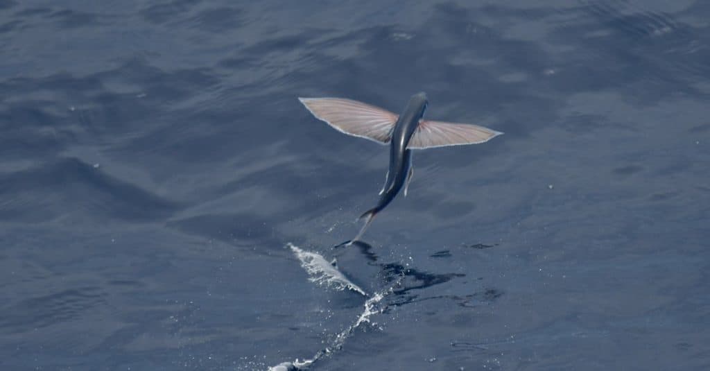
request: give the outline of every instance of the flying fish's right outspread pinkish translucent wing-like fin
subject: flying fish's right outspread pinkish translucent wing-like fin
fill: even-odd
[[[503,133],[500,131],[479,127],[478,125],[421,120],[407,148],[425,149],[478,144],[501,134]]]

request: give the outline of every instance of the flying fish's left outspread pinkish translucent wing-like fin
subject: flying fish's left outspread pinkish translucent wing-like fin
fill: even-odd
[[[380,144],[390,141],[398,115],[370,104],[342,98],[298,98],[315,116],[342,133]]]

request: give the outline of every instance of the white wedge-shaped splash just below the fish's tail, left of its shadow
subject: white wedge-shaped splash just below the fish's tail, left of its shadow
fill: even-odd
[[[367,296],[363,289],[347,279],[341,271],[333,267],[333,264],[330,264],[321,254],[305,251],[290,242],[286,246],[300,260],[301,267],[308,272],[309,281],[319,285],[330,286],[337,290],[349,289]]]

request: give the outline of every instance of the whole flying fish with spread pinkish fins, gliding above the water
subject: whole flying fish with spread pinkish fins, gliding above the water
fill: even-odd
[[[413,175],[414,149],[425,149],[461,144],[477,144],[501,135],[500,131],[472,124],[452,124],[424,120],[429,105],[423,92],[410,97],[404,111],[397,115],[370,104],[343,98],[299,98],[315,116],[334,129],[361,138],[377,141],[390,147],[390,161],[385,184],[377,205],[360,217],[365,224],[349,244],[359,240],[368,225],[387,207],[402,188],[407,195]]]

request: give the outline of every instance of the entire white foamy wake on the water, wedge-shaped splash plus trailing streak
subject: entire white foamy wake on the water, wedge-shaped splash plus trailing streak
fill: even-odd
[[[336,267],[333,267],[333,265],[330,264],[321,254],[318,254],[317,252],[305,251],[292,243],[288,243],[286,246],[293,251],[296,257],[300,260],[301,267],[303,267],[303,269],[305,269],[310,275],[309,281],[320,285],[331,286],[334,289],[339,290],[350,289],[362,294],[363,296],[368,296],[365,294],[363,289],[360,289],[356,284],[349,281],[341,271],[339,271]],[[357,328],[359,328],[363,323],[370,323],[370,318],[374,314],[385,311],[387,306],[381,306],[381,301],[388,294],[391,294],[393,288],[397,285],[398,281],[395,282],[391,288],[382,292],[377,292],[370,296],[369,299],[365,301],[363,311],[360,313],[360,316],[358,316],[358,318],[351,323],[350,326],[338,333],[338,335],[336,335],[335,338],[327,344],[326,348],[318,350],[313,357],[305,360],[296,359],[293,362],[283,362],[273,367],[269,367],[268,371],[308,370],[313,362],[316,362],[322,357],[342,349],[345,341],[355,332]]]

